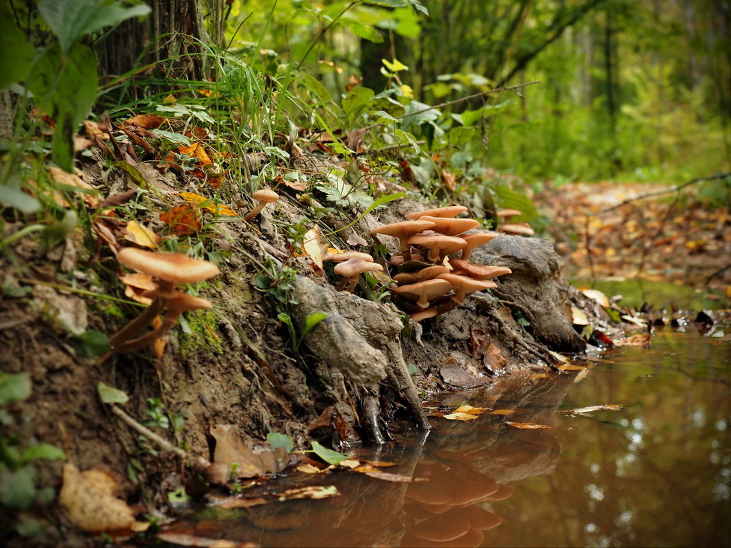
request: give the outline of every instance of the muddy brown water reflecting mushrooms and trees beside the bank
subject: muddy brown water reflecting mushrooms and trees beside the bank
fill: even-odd
[[[434,418],[428,436],[357,454],[428,481],[331,473],[312,481],[335,484],[338,497],[211,508],[186,530],[263,547],[730,546],[728,336],[661,330],[650,349],[616,349],[588,365],[445,395],[450,406],[515,413]],[[609,403],[624,407],[561,412]]]

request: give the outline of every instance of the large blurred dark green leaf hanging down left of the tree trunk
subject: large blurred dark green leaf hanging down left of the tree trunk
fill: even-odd
[[[73,170],[77,126],[96,101],[98,83],[96,57],[83,44],[74,45],[64,55],[58,45],[45,50],[26,81],[40,110],[56,122],[51,138],[52,158],[67,172]]]

